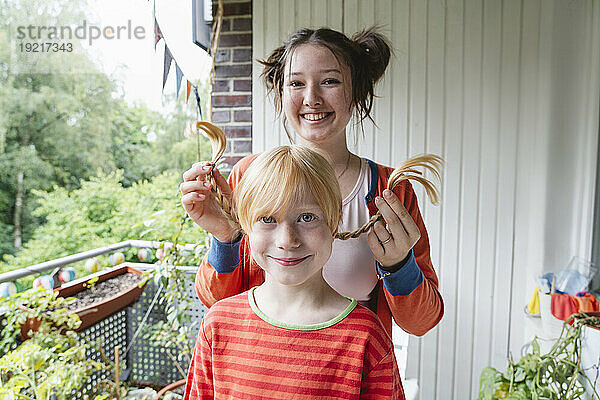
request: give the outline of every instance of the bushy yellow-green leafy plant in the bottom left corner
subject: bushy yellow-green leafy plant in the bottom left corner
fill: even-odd
[[[81,321],[64,308],[70,301],[43,289],[0,299],[0,398],[70,399],[92,373],[106,368],[86,356],[89,345],[74,331]],[[19,344],[21,325],[28,318],[39,321],[37,330]]]

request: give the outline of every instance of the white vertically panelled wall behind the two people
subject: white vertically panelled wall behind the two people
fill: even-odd
[[[442,205],[418,188],[445,315],[410,337],[420,399],[475,398],[532,327],[544,270],[591,253],[600,81],[599,0],[254,0],[254,58],[298,27],[379,24],[394,48],[374,119],[351,148],[397,165],[446,160]],[[253,70],[253,150],[287,143]],[[359,135],[361,136],[361,135]]]

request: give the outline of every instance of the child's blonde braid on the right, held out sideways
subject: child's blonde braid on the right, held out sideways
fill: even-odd
[[[423,176],[423,173],[415,168],[424,168],[430,171],[438,181],[441,181],[441,170],[444,165],[442,157],[435,154],[422,154],[420,156],[409,158],[396,168],[388,179],[387,188],[392,190],[394,186],[405,180],[413,180],[419,182],[425,187],[425,192],[429,196],[432,204],[438,204],[440,201],[440,193],[433,182]],[[369,221],[352,232],[338,232],[336,239],[348,240],[357,238],[365,232],[368,232],[375,222],[381,218],[381,213],[377,211]]]

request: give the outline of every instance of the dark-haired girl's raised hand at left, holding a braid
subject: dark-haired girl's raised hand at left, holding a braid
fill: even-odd
[[[192,221],[211,233],[218,241],[232,241],[238,232],[229,225],[227,218],[210,191],[210,183],[205,181],[211,166],[207,161],[197,162],[183,173],[181,204]],[[223,194],[231,198],[231,188],[218,169],[213,168],[212,175]]]

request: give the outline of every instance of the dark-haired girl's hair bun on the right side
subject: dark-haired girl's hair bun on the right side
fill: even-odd
[[[368,60],[368,70],[373,83],[377,82],[384,74],[390,62],[391,49],[388,40],[377,27],[371,27],[357,32],[352,41],[360,47],[362,55]]]

